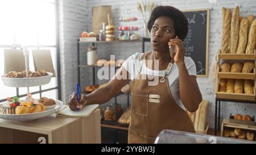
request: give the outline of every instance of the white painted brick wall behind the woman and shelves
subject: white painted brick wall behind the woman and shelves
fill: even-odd
[[[127,16],[126,10],[131,10],[131,16],[137,16],[138,21],[134,22],[135,26],[142,27],[142,16],[137,11],[137,2],[118,1],[118,0],[59,0],[59,31],[60,31],[60,52],[61,52],[61,95],[62,100],[67,101],[68,95],[75,90],[75,83],[77,81],[77,56],[76,56],[76,39],[82,31],[92,30],[92,7],[100,5],[112,5],[113,21],[116,27],[125,23],[119,23],[119,16]],[[210,30],[209,30],[209,68],[212,64],[214,53],[221,45],[221,7],[234,8],[236,5],[240,6],[240,15],[246,16],[248,14],[256,15],[256,0],[244,1],[220,1],[216,3],[209,3],[207,0],[193,0],[193,1],[155,1],[156,5],[172,5],[180,10],[191,9],[210,9]],[[142,31],[138,32],[142,35]],[[88,44],[81,46],[81,61],[86,64],[86,47]],[[117,59],[127,58],[134,52],[140,52],[141,43],[113,43],[98,44],[98,54],[101,58],[109,59],[109,55],[115,55]],[[148,46],[147,49],[150,49]],[[92,69],[82,68],[81,79],[82,86],[92,84]],[[98,81],[101,83],[101,81]],[[197,78],[203,98],[209,100],[208,123],[210,128],[214,127],[214,103],[215,98],[213,90],[208,78]],[[126,103],[126,97],[118,97],[120,103]],[[113,100],[112,100],[113,102]],[[125,106],[125,105],[123,105]],[[256,106],[254,104],[240,104],[222,102],[221,104],[221,118],[228,118],[230,113],[241,113],[256,115]]]

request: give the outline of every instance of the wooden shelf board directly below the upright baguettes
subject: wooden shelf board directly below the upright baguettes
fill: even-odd
[[[226,59],[226,60],[255,60],[255,50],[254,54],[237,54],[237,53],[221,53],[218,51],[218,58],[219,59]]]

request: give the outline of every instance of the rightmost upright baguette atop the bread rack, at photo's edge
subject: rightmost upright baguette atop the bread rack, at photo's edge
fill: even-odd
[[[254,19],[253,23],[251,23],[245,53],[247,54],[254,53],[255,44],[256,44],[256,19]]]

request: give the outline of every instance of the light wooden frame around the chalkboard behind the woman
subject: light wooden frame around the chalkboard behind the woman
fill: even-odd
[[[205,38],[205,74],[197,74],[197,77],[208,77],[208,53],[209,53],[209,19],[210,19],[210,11],[209,9],[195,9],[195,10],[181,10],[183,12],[198,12],[198,11],[207,11],[207,30],[206,30],[206,38]],[[196,62],[195,62],[196,63]]]

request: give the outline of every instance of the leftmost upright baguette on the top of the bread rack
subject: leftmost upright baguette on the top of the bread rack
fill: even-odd
[[[230,47],[230,23],[232,13],[230,9],[222,7],[222,41],[221,53],[229,53]]]

